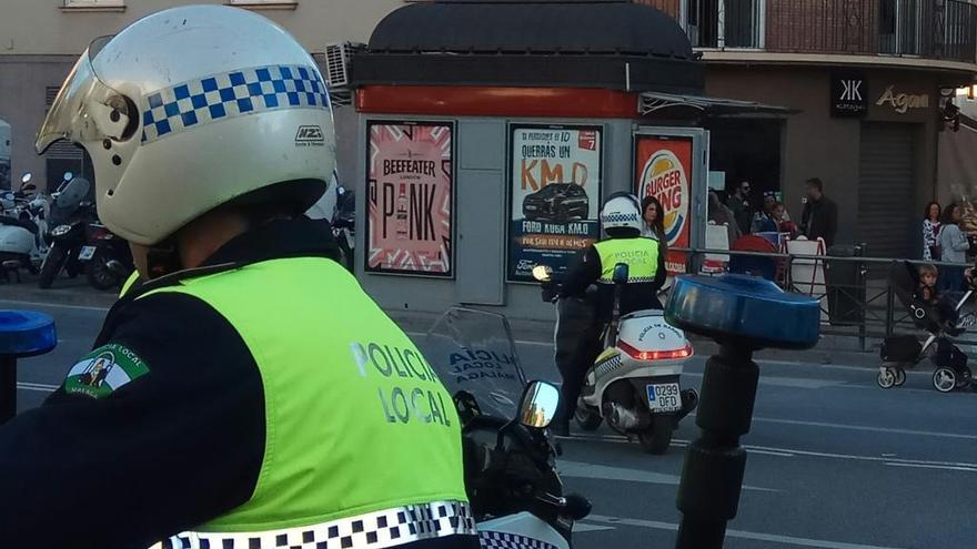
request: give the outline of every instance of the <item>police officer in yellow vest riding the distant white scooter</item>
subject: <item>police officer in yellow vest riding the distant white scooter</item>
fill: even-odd
[[[601,210],[601,225],[608,238],[583,252],[577,264],[564,278],[560,291],[560,296],[564,298],[562,302],[581,303],[567,298],[582,297],[592,284],[598,286],[596,301],[586,302],[593,303],[595,307],[592,316],[594,322],[583,328],[578,325],[557,324],[557,346],[571,347],[557,348],[556,366],[563,377],[563,385],[561,409],[554,421],[554,430],[562,436],[570,433],[570,418],[576,409],[583,377],[601,352],[601,332],[611,319],[614,305],[614,266],[618,263],[628,265],[628,283],[621,296],[622,315],[662,308],[657,292],[667,276],[664,247],[654,238],[642,236],[643,221],[637,197],[631,193],[612,194]]]

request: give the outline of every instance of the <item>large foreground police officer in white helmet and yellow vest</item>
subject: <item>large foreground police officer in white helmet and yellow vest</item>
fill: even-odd
[[[143,282],[0,426],[0,547],[479,547],[451,395],[370,364],[421,353],[302,216],[335,149],[299,42],[223,6],[142,18],[81,55],[37,149],[61,139]],[[414,389],[440,419],[397,411]]]

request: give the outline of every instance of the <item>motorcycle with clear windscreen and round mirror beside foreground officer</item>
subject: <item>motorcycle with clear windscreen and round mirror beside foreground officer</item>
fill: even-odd
[[[465,486],[482,547],[568,549],[591,504],[564,496],[544,430],[556,387],[526,383],[504,316],[452,308],[427,333],[424,356],[454,396],[462,421]]]

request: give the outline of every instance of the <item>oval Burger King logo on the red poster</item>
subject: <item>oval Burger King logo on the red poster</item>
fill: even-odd
[[[654,196],[662,203],[665,237],[668,245],[675,245],[687,234],[691,190],[685,166],[674,152],[662,149],[645,162],[638,182],[638,197]]]

